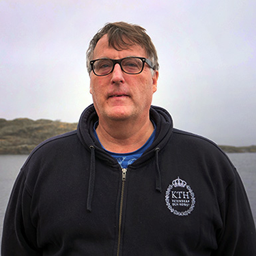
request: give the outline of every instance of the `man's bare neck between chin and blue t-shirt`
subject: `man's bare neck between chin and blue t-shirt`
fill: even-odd
[[[150,119],[146,122],[100,122],[96,128],[102,146],[115,153],[134,152],[150,138],[154,126]]]

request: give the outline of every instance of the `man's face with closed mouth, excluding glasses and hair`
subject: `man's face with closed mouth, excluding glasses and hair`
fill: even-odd
[[[147,57],[139,45],[123,51],[109,48],[107,35],[98,41],[94,49],[94,59],[122,59],[131,56]],[[152,76],[147,63],[140,74],[126,74],[116,64],[111,74],[96,76],[91,72],[90,78],[90,93],[99,119],[105,122],[127,119],[136,121],[148,117],[152,96],[157,88],[158,72]]]

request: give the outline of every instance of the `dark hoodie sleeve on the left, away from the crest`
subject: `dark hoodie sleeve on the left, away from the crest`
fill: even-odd
[[[2,256],[39,256],[36,228],[31,223],[31,194],[25,187],[26,176],[20,171],[10,196],[3,223]]]

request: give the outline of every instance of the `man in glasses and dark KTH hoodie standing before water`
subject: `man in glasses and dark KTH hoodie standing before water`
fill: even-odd
[[[7,255],[256,255],[238,173],[211,141],[151,106],[156,49],[109,23],[87,51],[94,104],[33,150],[5,215]]]

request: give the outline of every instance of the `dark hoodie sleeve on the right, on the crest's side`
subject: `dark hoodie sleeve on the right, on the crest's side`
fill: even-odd
[[[226,189],[220,205],[223,228],[218,231],[218,250],[212,256],[256,255],[255,223],[242,180],[235,179]]]

